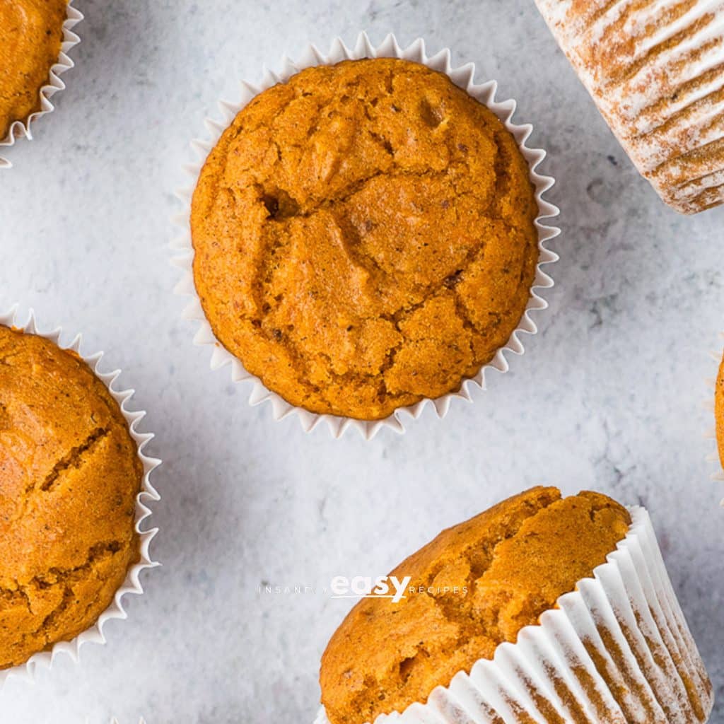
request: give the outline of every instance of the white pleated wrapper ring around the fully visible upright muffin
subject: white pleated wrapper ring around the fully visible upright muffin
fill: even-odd
[[[243,367],[243,364],[229,353],[224,346],[216,340],[214,332],[211,330],[211,325],[206,319],[203,309],[201,308],[201,301],[198,298],[198,294],[195,290],[193,282],[193,245],[191,242],[189,219],[190,219],[190,208],[191,198],[198,175],[201,172],[206,156],[209,151],[216,145],[216,142],[221,137],[224,130],[230,125],[236,114],[243,109],[246,104],[251,101],[254,96],[261,93],[262,90],[271,88],[271,86],[277,83],[283,83],[292,75],[303,70],[307,67],[316,65],[326,65],[342,62],[343,60],[358,60],[363,58],[400,58],[411,61],[416,61],[425,64],[432,70],[438,70],[444,72],[450,77],[455,85],[460,86],[466,90],[473,98],[477,98],[481,103],[488,106],[494,114],[503,122],[505,127],[513,134],[515,140],[518,142],[518,146],[523,153],[526,161],[528,161],[531,172],[531,182],[536,188],[536,201],[539,207],[539,216],[536,219],[536,230],[538,232],[538,248],[539,248],[539,261],[536,266],[536,276],[531,287],[531,297],[529,298],[528,306],[526,311],[523,313],[521,321],[518,323],[518,328],[515,329],[513,334],[510,335],[508,342],[497,351],[492,361],[483,366],[476,376],[472,379],[467,379],[463,382],[462,387],[458,392],[451,392],[437,399],[430,400],[425,399],[415,405],[410,405],[405,408],[398,408],[392,415],[382,420],[374,421],[362,421],[355,420],[353,418],[339,417],[333,415],[318,415],[311,413],[303,408],[295,407],[290,405],[286,400],[282,399],[275,392],[272,392],[264,383],[261,382],[258,377],[250,374]],[[515,101],[496,101],[495,92],[497,90],[497,83],[494,80],[489,80],[486,83],[478,84],[474,83],[473,75],[475,72],[475,66],[472,63],[460,67],[452,67],[450,61],[450,50],[444,49],[438,53],[429,56],[426,53],[425,42],[422,38],[418,38],[413,41],[406,48],[401,48],[397,43],[395,36],[390,34],[384,38],[384,41],[378,46],[373,46],[366,33],[360,33],[357,41],[352,48],[345,46],[345,43],[337,38],[333,41],[329,53],[321,53],[315,46],[308,46],[306,51],[300,56],[298,62],[292,62],[288,58],[282,59],[282,69],[279,73],[274,73],[269,70],[264,71],[264,77],[261,83],[258,85],[251,85],[249,83],[242,83],[242,95],[239,101],[236,103],[227,103],[222,101],[219,104],[219,110],[221,112],[221,119],[214,120],[206,119],[206,130],[207,138],[203,140],[194,140],[191,143],[194,149],[197,159],[193,163],[185,166],[185,171],[190,175],[192,182],[188,188],[181,190],[178,196],[185,206],[182,214],[179,214],[174,218],[174,221],[180,225],[183,229],[183,234],[173,244],[172,248],[179,252],[179,256],[174,258],[174,264],[180,267],[182,270],[183,277],[178,283],[175,292],[179,295],[185,295],[192,298],[191,302],[185,308],[183,316],[185,319],[190,319],[198,323],[198,331],[194,337],[194,343],[196,345],[209,346],[211,348],[211,369],[219,369],[227,364],[231,365],[231,376],[233,382],[241,382],[248,380],[252,383],[251,395],[249,397],[249,403],[251,405],[258,405],[260,403],[269,402],[271,404],[272,415],[275,420],[281,420],[289,415],[295,414],[300,419],[300,423],[305,432],[311,432],[320,421],[324,421],[329,426],[329,430],[333,437],[341,437],[346,429],[353,427],[357,429],[364,438],[371,439],[377,432],[383,427],[394,430],[395,432],[405,432],[404,417],[418,418],[423,409],[427,404],[431,404],[437,415],[442,418],[450,408],[450,402],[455,397],[461,397],[463,400],[468,402],[472,401],[471,397],[471,385],[477,385],[481,389],[485,389],[485,374],[489,369],[496,369],[499,372],[508,371],[508,361],[505,358],[505,353],[513,353],[517,355],[523,354],[523,343],[521,342],[522,334],[535,334],[537,329],[534,321],[531,319],[531,313],[547,308],[547,303],[542,299],[536,290],[547,289],[553,286],[553,280],[544,273],[542,266],[544,264],[551,264],[557,261],[557,255],[549,251],[545,244],[548,240],[557,236],[560,233],[560,229],[557,227],[546,226],[542,224],[542,219],[550,218],[551,216],[557,216],[559,213],[558,209],[544,201],[542,198],[545,191],[550,189],[554,184],[554,180],[550,176],[542,176],[536,172],[536,167],[544,159],[545,151],[538,148],[528,148],[526,146],[526,140],[531,135],[533,127],[529,124],[518,125],[513,123],[512,117],[515,112]]]

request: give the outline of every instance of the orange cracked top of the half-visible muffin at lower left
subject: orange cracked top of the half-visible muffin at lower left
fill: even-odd
[[[143,464],[80,358],[0,325],[0,669],[96,622],[140,557]]]

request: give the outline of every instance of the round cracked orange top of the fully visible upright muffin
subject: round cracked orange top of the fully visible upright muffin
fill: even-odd
[[[224,131],[193,194],[193,274],[216,338],[292,405],[384,418],[475,376],[538,260],[529,167],[441,73],[303,70]]]

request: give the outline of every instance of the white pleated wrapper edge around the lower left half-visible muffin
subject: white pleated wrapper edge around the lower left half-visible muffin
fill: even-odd
[[[99,366],[101,365],[101,359],[104,353],[97,352],[93,355],[85,355],[80,351],[80,345],[82,342],[82,336],[77,334],[70,345],[61,344],[62,328],[57,327],[49,332],[41,332],[38,329],[38,322],[35,319],[35,313],[30,310],[28,315],[28,321],[22,323],[18,320],[17,315],[18,306],[13,306],[8,313],[0,313],[0,324],[6,327],[16,327],[17,329],[23,329],[29,334],[38,334],[41,337],[51,340],[62,349],[72,350],[85,363],[90,367],[98,379],[108,387],[109,392],[113,396],[114,400],[118,403],[121,408],[121,412],[127,422],[128,429],[131,437],[134,439],[136,446],[138,447],[138,457],[143,463],[143,481],[141,481],[141,489],[136,497],[135,502],[135,529],[138,531],[140,539],[140,560],[129,569],[125,581],[122,586],[117,590],[114,595],[113,602],[109,605],[106,610],[101,613],[96,623],[88,628],[83,633],[80,633],[72,641],[59,641],[54,644],[48,651],[39,652],[33,654],[24,664],[14,666],[8,669],[0,670],[0,690],[2,689],[4,682],[9,676],[19,676],[25,678],[28,681],[33,681],[35,678],[35,671],[38,668],[51,668],[56,656],[62,652],[70,654],[70,657],[77,662],[80,654],[80,647],[88,642],[92,641],[96,644],[105,644],[106,637],[104,636],[103,628],[106,621],[114,618],[127,618],[127,613],[123,607],[123,597],[126,594],[142,594],[143,586],[140,584],[139,574],[144,568],[154,568],[159,565],[156,561],[151,558],[151,552],[149,547],[153,536],[156,535],[159,529],[152,528],[149,530],[141,530],[140,525],[151,515],[151,510],[146,507],[146,502],[160,500],[159,494],[151,485],[150,476],[154,468],[161,464],[161,460],[156,458],[149,458],[148,455],[143,453],[143,448],[146,447],[148,442],[153,439],[153,434],[148,432],[140,432],[138,430],[138,424],[146,416],[145,411],[130,411],[128,405],[133,396],[134,390],[117,390],[114,385],[117,382],[120,370],[112,372],[102,372]]]

